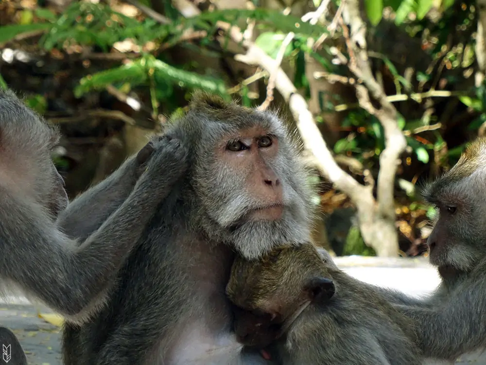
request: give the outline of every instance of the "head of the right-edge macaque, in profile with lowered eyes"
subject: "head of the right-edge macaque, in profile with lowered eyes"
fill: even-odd
[[[430,262],[443,277],[470,271],[486,251],[486,138],[472,142],[423,195],[438,211],[427,241]]]

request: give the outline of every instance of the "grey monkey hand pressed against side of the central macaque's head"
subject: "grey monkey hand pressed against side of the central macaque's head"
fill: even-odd
[[[136,188],[143,185],[144,189],[150,189],[151,193],[165,198],[170,192],[173,184],[187,170],[188,149],[181,140],[171,139],[169,136],[162,136],[152,141],[140,151],[140,157],[150,153],[146,167],[141,174]],[[152,151],[150,149],[153,148]],[[137,156],[138,157],[138,156]]]

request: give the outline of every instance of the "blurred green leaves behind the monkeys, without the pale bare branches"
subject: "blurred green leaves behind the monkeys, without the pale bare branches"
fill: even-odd
[[[151,6],[157,1],[140,2]],[[29,6],[3,1],[0,15],[5,12],[6,16],[0,18],[4,19],[0,22],[0,49],[3,52],[26,49],[42,55],[46,67],[50,60],[65,60],[70,65],[72,59],[81,59],[83,67],[78,66],[76,76],[69,77],[72,84],[67,86],[76,100],[114,87],[123,94],[148,95],[145,104],[152,115],[157,115],[159,105],[163,104],[164,114],[174,117],[181,115],[185,107],[176,95],[188,95],[196,89],[228,100],[237,97],[245,106],[258,105],[265,97],[261,93],[264,87],[252,88],[256,82],[264,86],[263,76],[232,75],[227,67],[221,66],[220,61],[233,58],[235,51],[218,22],[243,30],[251,24],[257,35],[256,45],[273,58],[280,52],[286,35],[293,32],[295,37],[284,50],[285,70],[302,94],[309,99],[317,98],[314,114],[319,128],[334,133],[332,137],[325,135],[334,153],[361,165],[344,168],[361,182],[366,170],[377,178],[384,148],[382,125],[360,109],[356,100],[350,101],[352,88],[323,91],[320,81],[312,78],[315,73],[351,77],[340,60],[341,56],[347,58],[340,28],[328,28],[330,24],[337,25],[333,17],[340,0],[331,0],[329,14],[315,23],[303,21],[301,14],[294,14],[294,8],[290,13],[284,8],[266,9],[266,2],[261,0],[251,1],[253,10],[247,10],[251,9],[249,5],[244,10],[218,10],[217,0],[206,1],[210,6],[191,18],[185,18],[171,1],[158,2],[164,4],[167,24],[144,16],[121,0],[72,1],[61,10],[40,6],[35,0],[22,2]],[[321,0],[295,3],[306,13],[315,11]],[[414,255],[414,247],[424,241],[422,229],[434,214],[432,207],[420,202],[416,185],[454,164],[465,142],[486,122],[485,85],[475,87],[473,82],[477,12],[472,1],[452,0],[364,0],[364,10],[369,22],[373,71],[399,110],[399,127],[408,144],[397,177],[396,206],[399,231],[408,242],[408,246],[404,244],[401,248]],[[177,59],[174,51],[177,48],[191,51],[193,58]],[[95,62],[87,56],[93,54],[96,55],[93,59],[106,62],[99,61],[93,66]],[[212,60],[208,62],[210,65],[201,66],[199,56]],[[1,88],[16,81],[16,76],[4,71],[5,60],[12,56],[2,57]],[[314,65],[312,73],[310,62]],[[65,69],[54,78],[64,77]],[[407,74],[407,69],[413,72]],[[52,112],[55,103],[50,92],[28,95],[28,105],[41,114]],[[328,125],[330,115],[340,115],[337,125]],[[61,159],[56,163],[63,164]],[[330,212],[349,205],[349,201],[328,187],[316,204]],[[373,255],[364,245],[359,230],[353,229],[348,232],[345,252]]]

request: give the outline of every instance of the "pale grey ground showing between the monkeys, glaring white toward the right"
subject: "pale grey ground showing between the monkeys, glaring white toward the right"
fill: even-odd
[[[365,282],[396,288],[411,295],[434,290],[439,278],[426,259],[378,259],[342,257],[336,263]],[[42,312],[46,312],[42,308]],[[12,329],[24,348],[30,365],[61,365],[60,332],[36,316],[34,306],[23,298],[0,302],[0,325]],[[0,365],[5,363],[0,359]],[[439,363],[430,363],[439,364]],[[463,356],[455,364],[486,365],[486,354]]]

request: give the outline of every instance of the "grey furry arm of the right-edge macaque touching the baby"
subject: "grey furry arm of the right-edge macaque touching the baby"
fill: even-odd
[[[397,306],[416,321],[418,345],[426,357],[455,360],[486,343],[486,287],[459,288],[431,308]]]

